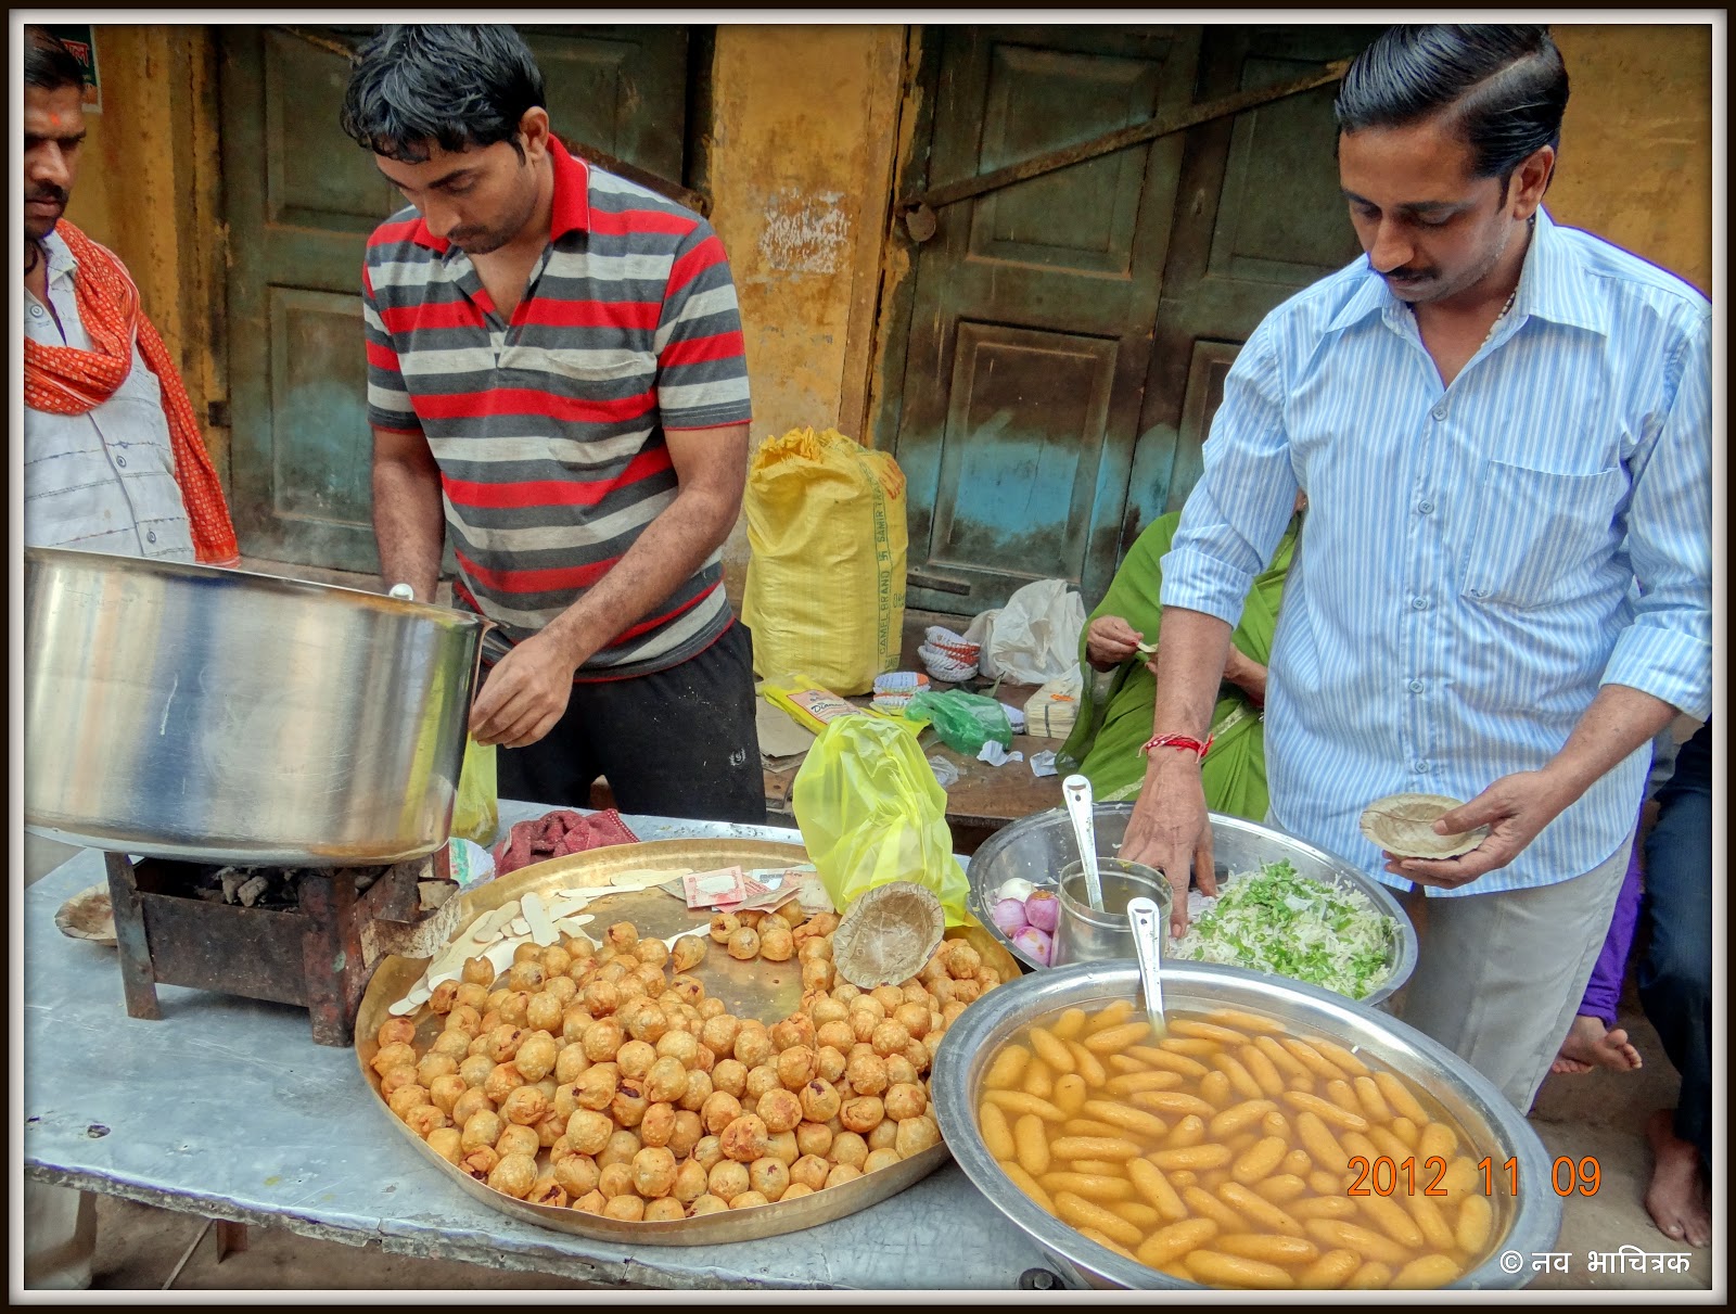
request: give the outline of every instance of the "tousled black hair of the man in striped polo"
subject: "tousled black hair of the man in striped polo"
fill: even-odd
[[[380,28],[351,61],[344,132],[375,154],[418,165],[429,144],[519,144],[519,120],[543,104],[543,78],[524,38],[500,23],[404,23]]]

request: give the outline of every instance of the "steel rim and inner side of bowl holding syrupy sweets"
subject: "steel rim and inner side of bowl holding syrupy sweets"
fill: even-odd
[[[958,1166],[1007,1219],[1094,1286],[1198,1291],[1085,1238],[1024,1194],[983,1144],[977,1127],[983,1078],[995,1055],[1031,1022],[1064,1008],[1101,1008],[1111,1000],[1139,1000],[1132,962],[1075,963],[1031,972],[984,995],[946,1029],[934,1055],[934,1116]],[[1434,1116],[1443,1113],[1465,1133],[1458,1153],[1489,1156],[1495,1168],[1517,1160],[1521,1189],[1512,1194],[1505,1170],[1491,1173],[1495,1231],[1488,1253],[1451,1290],[1517,1288],[1531,1281],[1529,1255],[1550,1250],[1561,1234],[1561,1198],[1550,1189],[1549,1151],[1524,1116],[1451,1050],[1404,1022],[1299,981],[1215,963],[1165,963],[1163,1007],[1170,1014],[1245,1008],[1285,1022],[1292,1035],[1314,1035],[1371,1057],[1425,1092]],[[1514,1264],[1526,1257],[1524,1264]],[[1503,1264],[1505,1260],[1505,1264]]]

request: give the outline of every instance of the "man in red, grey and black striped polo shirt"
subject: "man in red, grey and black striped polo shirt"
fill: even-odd
[[[387,583],[453,592],[510,642],[470,729],[500,792],[766,818],[748,637],[719,549],[748,380],[722,243],[569,154],[509,26],[384,28],[344,130],[410,201],[368,241],[373,524]]]

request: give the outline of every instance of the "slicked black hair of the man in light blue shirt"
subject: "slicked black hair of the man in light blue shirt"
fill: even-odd
[[[1332,111],[1338,132],[1408,127],[1446,111],[1474,177],[1507,186],[1543,146],[1561,146],[1568,69],[1549,28],[1418,23],[1387,28],[1356,57]]]

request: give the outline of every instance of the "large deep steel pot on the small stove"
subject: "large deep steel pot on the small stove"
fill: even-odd
[[[352,588],[24,552],[24,819],[250,866],[399,863],[451,830],[486,621]]]

